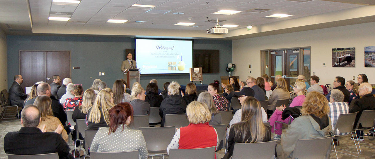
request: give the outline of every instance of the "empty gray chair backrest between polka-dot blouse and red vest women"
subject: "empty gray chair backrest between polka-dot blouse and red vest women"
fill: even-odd
[[[140,127],[144,140],[146,141],[147,150],[165,151],[174,136],[174,126],[170,127]]]

